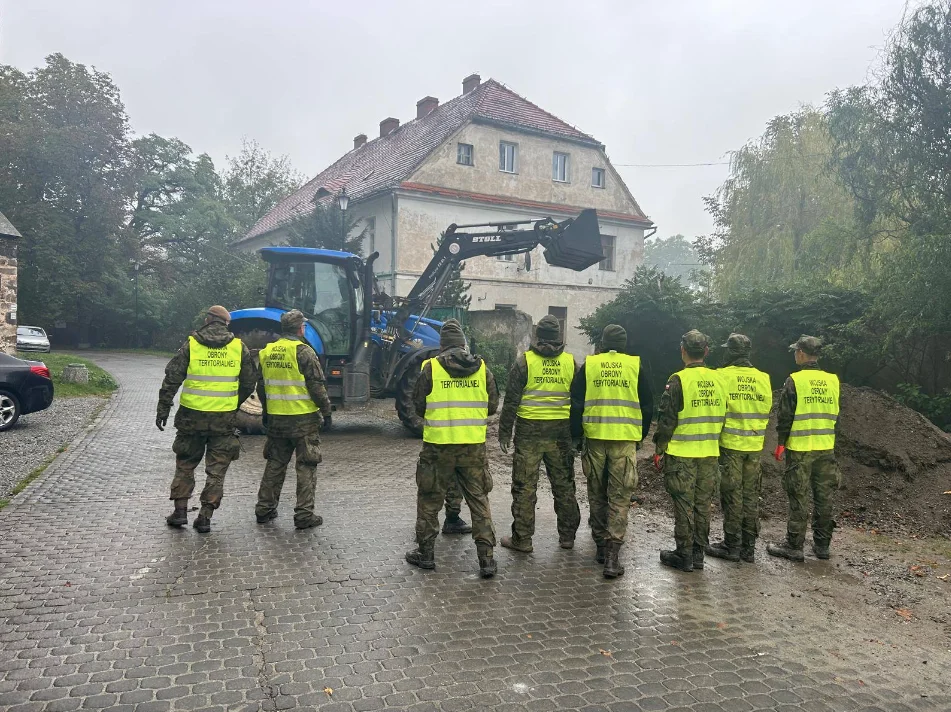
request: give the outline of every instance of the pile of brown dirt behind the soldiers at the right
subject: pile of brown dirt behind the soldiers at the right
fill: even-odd
[[[778,393],[776,394],[778,400]],[[772,413],[763,450],[764,518],[786,517],[782,467]],[[640,453],[639,496],[644,506],[669,508],[663,477]],[[839,526],[881,532],[951,535],[951,438],[929,420],[893,398],[870,388],[842,385],[836,459],[842,485],[836,499]]]

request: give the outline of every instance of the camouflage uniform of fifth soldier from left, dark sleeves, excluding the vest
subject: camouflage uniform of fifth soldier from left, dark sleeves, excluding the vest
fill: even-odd
[[[620,329],[620,327],[618,327]],[[607,330],[606,330],[607,331]],[[627,333],[619,331],[617,343],[605,342],[601,351],[625,351]],[[587,393],[585,364],[571,382],[571,436],[581,442],[584,436],[584,402]],[[650,432],[654,417],[654,396],[642,367],[637,380],[637,400],[641,407],[642,438]],[[637,489],[637,448],[639,442],[623,440],[585,439],[581,454],[581,469],[588,482],[588,524],[599,551],[608,542],[622,543],[627,533],[627,518],[631,495]],[[600,556],[600,554],[599,554]]]

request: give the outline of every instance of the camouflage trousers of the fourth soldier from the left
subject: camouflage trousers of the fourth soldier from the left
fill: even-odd
[[[558,539],[574,541],[581,524],[581,510],[575,496],[575,457],[567,427],[564,436],[554,440],[520,438],[516,429],[512,460],[512,538],[527,543],[535,534],[538,469],[543,462],[555,500]]]

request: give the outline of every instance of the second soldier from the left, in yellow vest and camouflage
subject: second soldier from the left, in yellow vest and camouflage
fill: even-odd
[[[277,517],[277,504],[284,487],[287,465],[295,455],[297,506],[294,526],[310,529],[323,524],[314,513],[317,465],[320,455],[320,426],[331,411],[327,382],[317,354],[301,339],[304,315],[292,309],[281,315],[281,338],[268,344],[258,355],[261,375],[258,397],[267,418],[267,465],[258,489],[254,514],[258,524]]]

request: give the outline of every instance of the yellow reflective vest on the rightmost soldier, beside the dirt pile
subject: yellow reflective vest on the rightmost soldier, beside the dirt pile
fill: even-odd
[[[832,450],[839,419],[839,377],[810,368],[790,378],[796,384],[796,414],[786,447],[798,452]]]

